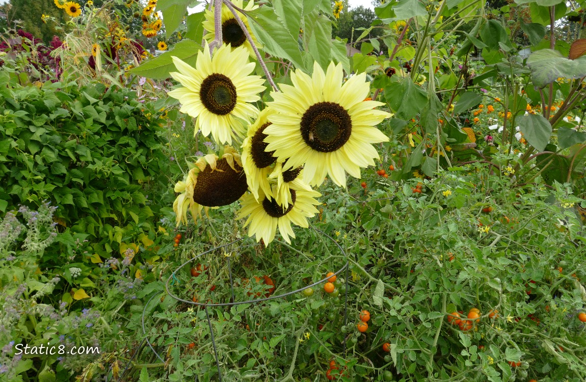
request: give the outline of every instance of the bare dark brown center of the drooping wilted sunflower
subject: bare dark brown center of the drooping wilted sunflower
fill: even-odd
[[[217,160],[215,170],[207,165],[197,174],[193,200],[202,206],[219,207],[240,199],[248,185],[242,168],[237,163],[234,163],[234,168],[237,171],[234,171],[224,158]]]

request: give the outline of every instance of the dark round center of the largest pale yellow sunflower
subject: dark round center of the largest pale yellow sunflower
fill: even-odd
[[[342,147],[352,134],[352,120],[345,108],[333,102],[311,105],[301,117],[301,137],[319,152]]]

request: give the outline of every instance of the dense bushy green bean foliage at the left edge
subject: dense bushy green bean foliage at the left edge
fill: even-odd
[[[60,226],[105,253],[128,224],[152,227],[149,198],[162,197],[170,166],[152,106],[99,83],[21,87],[2,73],[0,84],[0,211],[53,200]]]

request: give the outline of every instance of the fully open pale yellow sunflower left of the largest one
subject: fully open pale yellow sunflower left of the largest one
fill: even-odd
[[[170,74],[183,87],[169,96],[179,100],[181,112],[197,117],[195,132],[201,129],[205,137],[211,133],[219,144],[242,137],[244,126],[235,117],[245,121],[256,117],[258,109],[250,103],[260,100],[258,93],[265,90],[261,77],[248,76],[255,63],[248,62],[246,49],[223,45],[212,59],[206,43],[203,52],[197,52],[195,69],[175,56],[173,63],[179,72]]]

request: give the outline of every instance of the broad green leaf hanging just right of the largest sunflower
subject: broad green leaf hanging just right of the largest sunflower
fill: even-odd
[[[410,77],[385,87],[384,97],[396,117],[402,120],[415,117],[427,104],[427,93],[420,86],[415,85]]]

